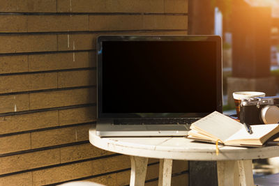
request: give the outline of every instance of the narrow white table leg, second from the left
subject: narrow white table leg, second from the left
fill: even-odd
[[[172,160],[160,159],[159,186],[169,186],[172,180]]]

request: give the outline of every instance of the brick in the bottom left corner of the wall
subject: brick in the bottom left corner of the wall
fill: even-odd
[[[0,178],[0,185],[18,186],[18,185],[32,185],[32,173],[20,173],[13,176],[6,176]]]

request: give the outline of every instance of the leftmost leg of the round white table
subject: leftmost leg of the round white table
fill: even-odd
[[[148,157],[130,156],[130,186],[144,186]]]

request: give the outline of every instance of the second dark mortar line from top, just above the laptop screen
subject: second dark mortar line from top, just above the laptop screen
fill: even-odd
[[[40,32],[2,32],[0,36],[22,36],[22,35],[63,35],[63,34],[90,34],[90,33],[119,33],[119,32],[157,32],[157,31],[188,31],[188,29],[145,29],[145,30],[111,30],[111,31],[40,31]]]

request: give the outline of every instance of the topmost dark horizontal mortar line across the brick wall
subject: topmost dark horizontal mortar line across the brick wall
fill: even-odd
[[[0,15],[188,15],[188,13],[26,13],[1,12]]]

